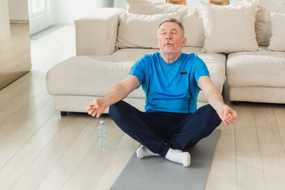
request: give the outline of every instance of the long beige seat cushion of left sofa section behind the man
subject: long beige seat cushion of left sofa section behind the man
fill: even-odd
[[[182,48],[185,53],[197,53],[207,65],[214,84],[222,91],[226,56],[217,53],[200,53],[201,48]],[[76,56],[48,70],[46,83],[51,95],[103,96],[113,85],[122,81],[136,60],[157,49],[125,48],[110,56]],[[142,88],[128,97],[145,97]],[[199,93],[198,101],[207,102]]]

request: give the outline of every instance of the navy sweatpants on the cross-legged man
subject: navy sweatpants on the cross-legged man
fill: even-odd
[[[109,107],[109,115],[123,132],[162,157],[169,148],[183,150],[195,146],[222,122],[211,105],[192,114],[140,112],[120,100]]]

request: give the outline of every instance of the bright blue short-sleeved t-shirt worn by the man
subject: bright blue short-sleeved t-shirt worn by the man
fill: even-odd
[[[193,113],[197,110],[198,80],[209,76],[209,71],[196,53],[181,53],[173,63],[153,53],[136,61],[129,75],[135,75],[142,85],[145,112]]]

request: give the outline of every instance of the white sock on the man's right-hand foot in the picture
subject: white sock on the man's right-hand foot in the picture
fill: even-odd
[[[165,158],[172,162],[183,164],[184,167],[190,166],[191,157],[188,152],[177,151],[176,149],[170,148],[165,155]]]

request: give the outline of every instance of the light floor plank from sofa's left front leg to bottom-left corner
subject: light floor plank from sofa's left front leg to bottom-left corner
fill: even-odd
[[[38,130],[38,132],[21,147],[19,152],[9,159],[9,162],[0,170],[0,189],[9,189],[9,187],[14,184],[16,179],[23,174],[31,162],[43,151],[51,139],[61,130],[61,127],[66,124],[68,119],[69,117],[61,118],[61,115],[55,113],[53,117],[41,127],[41,130]]]

